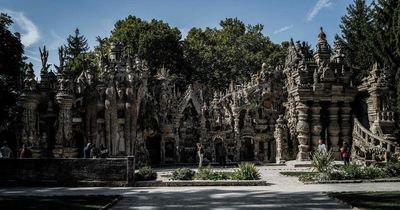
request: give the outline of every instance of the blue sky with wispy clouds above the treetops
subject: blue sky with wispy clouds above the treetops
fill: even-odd
[[[183,38],[192,27],[219,27],[225,18],[245,24],[263,24],[263,33],[275,43],[307,41],[315,46],[323,27],[330,43],[340,34],[340,18],[353,0],[0,0],[0,12],[9,14],[11,29],[21,33],[28,62],[40,70],[39,47],[49,49],[49,63],[58,64],[57,48],[78,27],[90,49],[96,37],[107,37],[117,20],[134,15],[160,19],[180,29]],[[54,67],[52,67],[54,69]]]

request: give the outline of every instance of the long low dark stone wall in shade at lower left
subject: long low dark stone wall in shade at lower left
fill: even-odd
[[[107,159],[0,159],[0,166],[0,185],[16,186],[125,186],[132,184],[134,171],[133,157]],[[128,174],[128,172],[130,173]]]

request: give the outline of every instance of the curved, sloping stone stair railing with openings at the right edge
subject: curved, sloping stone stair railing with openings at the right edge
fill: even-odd
[[[387,161],[397,155],[400,147],[385,136],[373,134],[354,118],[352,157],[363,161]]]

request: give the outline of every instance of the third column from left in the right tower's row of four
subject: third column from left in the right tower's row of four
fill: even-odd
[[[328,126],[329,141],[331,143],[333,157],[335,159],[339,159],[340,158],[340,152],[339,152],[340,127],[338,122],[339,107],[337,106],[336,103],[332,103],[331,106],[328,108],[328,111],[329,111],[329,126]]]

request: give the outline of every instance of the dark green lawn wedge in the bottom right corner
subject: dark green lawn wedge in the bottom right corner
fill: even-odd
[[[400,191],[398,192],[343,192],[329,193],[360,209],[400,209]]]

